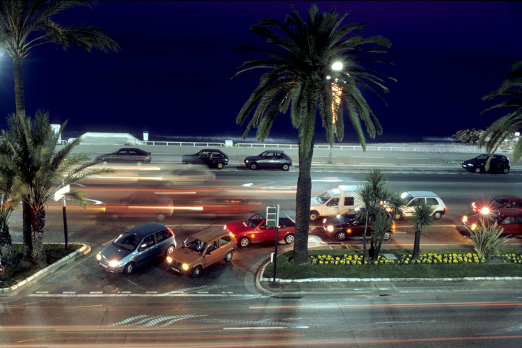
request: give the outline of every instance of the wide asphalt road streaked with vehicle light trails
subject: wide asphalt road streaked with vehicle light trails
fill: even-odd
[[[94,157],[117,147],[100,148],[101,145],[88,146],[81,150]],[[520,346],[521,293],[517,284],[455,284],[427,289],[423,284],[403,287],[368,283],[349,289],[346,294],[278,299],[261,294],[253,282],[255,271],[273,251],[271,244],[253,244],[239,250],[232,262],[209,267],[197,279],[173,274],[161,260],[150,262],[131,276],[103,271],[95,261],[95,253],[122,230],[151,217],[114,220],[99,207],[135,191],[165,194],[179,207],[223,195],[244,199],[244,210],[237,212],[201,214],[175,210],[161,222],[173,228],[178,243],[197,230],[221,228],[224,223],[244,219],[259,207],[263,211],[267,204],[278,203],[284,212],[292,214],[296,168],[288,172],[246,170],[242,158],[262,150],[233,148],[233,153],[229,153],[232,162],[223,171],[210,171],[211,177],[202,175],[189,183],[173,180],[169,175],[180,168],[180,155],[197,150],[155,147],[150,165],[118,167],[116,179],[83,182],[79,188],[91,205],[83,210],[68,202],[69,238],[72,242],[88,243],[93,252],[17,296],[0,301],[0,336],[6,338],[0,346]],[[326,164],[327,150],[317,151],[316,155],[313,193],[338,184],[361,183],[371,166],[383,168],[388,187],[397,192],[437,193],[448,206],[448,213],[425,232],[421,248],[469,246],[470,242],[459,233],[459,226],[461,216],[470,214],[471,201],[500,193],[522,196],[519,168],[507,175],[464,171],[459,160],[476,154],[365,155],[362,151],[334,151],[333,165]],[[159,177],[169,179],[158,180]],[[310,228],[310,246],[338,244],[318,227],[315,223]],[[19,210],[10,220],[10,229],[14,239],[21,240]],[[45,240],[63,241],[59,202],[50,203],[47,210]],[[361,239],[341,244],[358,247]],[[520,239],[510,239],[509,244],[519,248]],[[397,221],[397,232],[383,247],[411,246],[411,223]],[[290,248],[291,245],[280,245],[280,251]]]

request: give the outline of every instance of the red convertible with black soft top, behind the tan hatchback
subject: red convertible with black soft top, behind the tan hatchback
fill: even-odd
[[[266,219],[255,213],[246,220],[227,223],[223,230],[232,233],[236,243],[245,247],[251,243],[274,242],[276,240],[276,228],[267,227]],[[295,221],[290,217],[279,217],[278,240],[284,240],[287,244],[294,242]]]

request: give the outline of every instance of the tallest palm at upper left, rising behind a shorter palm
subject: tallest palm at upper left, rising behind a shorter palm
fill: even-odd
[[[0,50],[5,50],[13,59],[15,77],[16,113],[25,117],[25,96],[22,61],[33,47],[54,43],[67,49],[77,45],[90,52],[93,48],[102,52],[117,52],[118,43],[95,26],[74,24],[63,26],[54,21],[54,16],[63,10],[84,6],[93,8],[93,1],[78,0],[17,0],[0,1]],[[22,232],[24,255],[31,253],[31,222],[29,205],[22,202]]]

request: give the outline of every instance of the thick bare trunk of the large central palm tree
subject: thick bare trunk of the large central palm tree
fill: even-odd
[[[312,168],[313,141],[308,156],[301,155],[303,149],[299,145],[299,178],[297,179],[295,204],[295,241],[292,262],[308,264],[308,230],[310,230],[310,199],[312,198]]]

